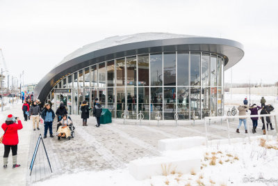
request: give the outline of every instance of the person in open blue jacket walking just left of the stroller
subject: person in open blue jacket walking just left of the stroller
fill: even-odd
[[[47,130],[49,129],[50,137],[53,136],[52,123],[55,118],[54,111],[50,108],[50,104],[45,105],[45,109],[42,111],[42,119],[44,120],[44,138],[47,138]]]

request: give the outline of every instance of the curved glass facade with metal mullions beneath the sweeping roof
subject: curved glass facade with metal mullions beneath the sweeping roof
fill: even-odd
[[[101,61],[67,75],[55,88],[70,89],[67,104],[81,114],[86,100],[94,107],[98,98],[113,118],[197,120],[222,116],[224,59],[205,52],[163,52]],[[58,93],[49,98],[60,100]],[[58,101],[57,101],[58,104]]]

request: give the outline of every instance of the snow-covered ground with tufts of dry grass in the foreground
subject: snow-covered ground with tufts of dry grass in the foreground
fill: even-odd
[[[184,157],[190,152],[202,155],[201,171],[178,173],[173,168],[165,176],[153,176],[138,181],[128,169],[115,171],[85,171],[72,174],[61,173],[34,185],[277,185],[278,143],[268,141],[260,146],[261,139],[252,144],[199,146],[188,150],[168,151],[163,155]]]

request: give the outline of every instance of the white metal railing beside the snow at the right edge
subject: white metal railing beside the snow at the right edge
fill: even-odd
[[[227,130],[228,130],[228,140],[229,144],[231,144],[231,137],[230,137],[230,127],[229,127],[229,119],[234,119],[234,118],[246,118],[246,125],[247,125],[247,136],[249,143],[251,143],[250,139],[250,124],[249,124],[249,119],[254,118],[254,117],[262,117],[264,119],[264,126],[266,125],[267,121],[265,120],[265,117],[269,116],[270,119],[273,117],[275,121],[275,130],[276,130],[276,135],[278,138],[278,128],[277,128],[277,116],[278,114],[258,114],[258,115],[246,115],[246,116],[213,116],[213,117],[205,117],[204,118],[204,127],[205,127],[205,132],[206,132],[206,146],[208,146],[208,132],[207,132],[207,125],[206,121],[222,121],[226,120],[227,121]],[[265,135],[266,135],[266,141],[268,141],[268,128],[265,126]]]

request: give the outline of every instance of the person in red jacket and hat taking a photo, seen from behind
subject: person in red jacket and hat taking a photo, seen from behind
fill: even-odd
[[[15,117],[12,114],[10,114],[6,119],[6,123],[2,124],[2,129],[5,131],[2,141],[2,143],[4,144],[3,168],[7,168],[8,155],[10,154],[10,149],[12,149],[13,154],[13,168],[18,167],[20,166],[20,164],[17,164],[17,130],[22,129],[22,122],[19,120],[19,118],[15,119]]]

